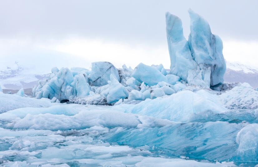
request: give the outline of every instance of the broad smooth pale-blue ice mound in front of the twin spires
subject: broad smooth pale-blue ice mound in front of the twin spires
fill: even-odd
[[[161,88],[158,89],[162,90]],[[165,93],[163,90],[162,92],[164,96]],[[209,115],[212,113],[228,111],[228,109],[222,107],[220,102],[216,101],[213,96],[214,95],[210,94],[212,100],[209,100],[209,98],[207,98],[209,94],[203,97],[192,91],[180,91],[168,97],[153,100],[146,99],[126,111],[171,121],[188,122],[194,119],[196,115],[210,117]]]

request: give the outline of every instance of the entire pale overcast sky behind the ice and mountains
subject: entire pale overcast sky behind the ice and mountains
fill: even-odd
[[[227,61],[258,65],[257,7],[256,0],[0,0],[0,58],[41,68],[94,61],[169,68],[165,12],[182,19],[187,39],[191,8],[221,37]]]

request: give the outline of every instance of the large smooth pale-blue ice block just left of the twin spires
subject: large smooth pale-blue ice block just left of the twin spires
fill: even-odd
[[[135,67],[132,76],[136,80],[144,82],[149,86],[156,85],[160,81],[167,81],[166,76],[164,76],[155,67],[144,65],[142,63]]]

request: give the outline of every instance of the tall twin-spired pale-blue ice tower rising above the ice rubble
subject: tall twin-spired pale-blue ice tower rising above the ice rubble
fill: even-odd
[[[211,33],[209,24],[189,10],[191,33],[183,35],[181,19],[166,13],[166,33],[171,60],[171,74],[180,76],[191,85],[206,88],[223,83],[226,63],[222,41]]]

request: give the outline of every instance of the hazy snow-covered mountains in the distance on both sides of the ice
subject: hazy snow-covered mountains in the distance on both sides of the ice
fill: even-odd
[[[48,70],[50,71],[50,69]],[[46,77],[47,72],[38,73],[15,62],[11,65],[1,65],[0,84],[2,89],[28,89]],[[247,82],[254,88],[258,87],[258,68],[240,63],[227,62],[227,70],[224,75],[226,82]]]

